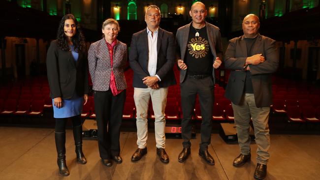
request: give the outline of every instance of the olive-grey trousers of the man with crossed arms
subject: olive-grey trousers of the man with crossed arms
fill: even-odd
[[[243,98],[239,105],[232,103],[240,151],[245,155],[250,153],[249,122],[252,118],[257,145],[256,161],[260,164],[267,164],[270,157],[268,152],[270,148],[268,126],[270,107],[257,108],[254,94],[246,93]]]

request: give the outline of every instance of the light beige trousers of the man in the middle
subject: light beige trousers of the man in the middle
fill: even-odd
[[[165,148],[165,106],[167,103],[168,88],[153,90],[151,88],[134,88],[134,103],[137,110],[137,145],[144,149],[148,139],[148,106],[150,96],[155,113],[155,136],[157,148]]]

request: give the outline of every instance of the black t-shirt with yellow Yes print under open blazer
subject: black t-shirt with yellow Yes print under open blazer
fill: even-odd
[[[198,32],[199,36],[195,36]],[[213,56],[208,41],[207,28],[195,30],[190,26],[185,63],[188,75],[211,75]]]

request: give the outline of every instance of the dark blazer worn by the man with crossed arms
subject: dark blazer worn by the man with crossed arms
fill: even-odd
[[[262,54],[265,61],[258,65],[250,65],[252,85],[254,89],[256,107],[268,107],[272,103],[271,73],[279,66],[276,41],[269,37],[258,35],[253,46],[253,54]],[[225,97],[239,105],[245,86],[246,71],[243,70],[248,57],[244,36],[229,40],[225,52],[224,67],[231,69]]]

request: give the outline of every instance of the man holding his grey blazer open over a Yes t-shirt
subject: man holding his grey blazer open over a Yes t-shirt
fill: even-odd
[[[192,22],[179,28],[176,35],[183,112],[183,150],[178,160],[183,162],[190,155],[191,117],[198,94],[202,117],[199,155],[213,165],[215,161],[208,152],[208,145],[214,103],[214,68],[220,66],[222,59],[221,35],[218,27],[204,21],[207,10],[202,2],[193,3],[189,14]]]

